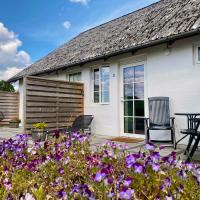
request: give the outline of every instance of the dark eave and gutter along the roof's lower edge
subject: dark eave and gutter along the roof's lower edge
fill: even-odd
[[[50,73],[50,72],[53,72],[55,70],[61,70],[61,69],[64,69],[64,68],[73,67],[73,66],[76,66],[76,65],[84,65],[88,62],[94,62],[94,61],[97,61],[97,60],[100,60],[100,59],[108,59],[110,57],[117,56],[117,55],[124,54],[124,53],[129,53],[129,52],[132,52],[132,51],[135,51],[135,50],[140,50],[140,49],[144,49],[144,48],[148,48],[148,47],[152,47],[152,46],[157,46],[157,45],[160,45],[160,44],[163,44],[163,43],[172,42],[172,41],[175,41],[175,40],[180,40],[180,39],[183,39],[183,38],[192,37],[192,36],[198,35],[199,33],[200,33],[200,28],[195,29],[193,31],[180,33],[178,35],[173,35],[173,36],[170,36],[170,37],[162,38],[162,39],[159,39],[159,40],[154,40],[154,41],[151,41],[149,43],[134,46],[132,48],[119,50],[119,51],[109,53],[109,54],[106,54],[106,55],[97,56],[95,58],[87,59],[87,60],[84,60],[82,62],[72,63],[72,64],[69,64],[69,65],[61,65],[61,66],[58,66],[56,69],[49,69],[49,70],[39,72],[39,73],[32,73],[30,75],[36,76],[36,75],[40,75],[40,74]],[[13,77],[13,78],[10,78],[8,80],[8,82],[15,82],[15,81],[17,81],[21,78],[23,78],[23,76]]]

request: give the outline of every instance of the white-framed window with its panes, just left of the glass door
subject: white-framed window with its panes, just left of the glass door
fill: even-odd
[[[103,66],[93,71],[94,103],[109,103],[110,101],[110,67]]]

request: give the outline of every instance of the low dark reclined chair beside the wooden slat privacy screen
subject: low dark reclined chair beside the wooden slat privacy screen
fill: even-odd
[[[93,120],[93,115],[80,115],[78,116],[72,126],[68,129],[68,131],[82,131],[87,134],[91,134],[91,123]]]

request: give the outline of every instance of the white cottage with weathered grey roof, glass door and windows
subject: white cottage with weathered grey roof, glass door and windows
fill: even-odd
[[[24,69],[9,80],[19,80],[21,119],[27,75],[83,82],[94,134],[143,138],[148,97],[170,97],[172,116],[200,112],[200,0],[161,0],[79,34]],[[186,119],[175,124],[178,138]]]

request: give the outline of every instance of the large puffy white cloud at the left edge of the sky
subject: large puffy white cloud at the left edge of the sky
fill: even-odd
[[[29,54],[19,50],[22,41],[0,22],[0,79],[6,80],[31,64]]]

